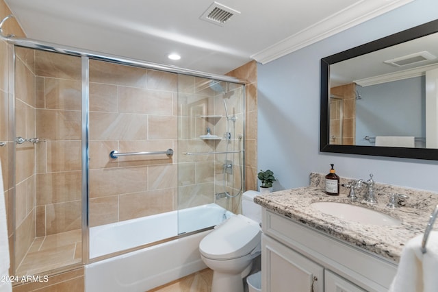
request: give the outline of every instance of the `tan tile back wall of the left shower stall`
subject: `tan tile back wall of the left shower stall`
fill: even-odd
[[[29,50],[36,67],[36,236],[81,228],[81,59]]]

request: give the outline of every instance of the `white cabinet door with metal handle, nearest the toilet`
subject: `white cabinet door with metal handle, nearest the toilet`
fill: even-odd
[[[263,234],[263,292],[323,292],[324,268]]]

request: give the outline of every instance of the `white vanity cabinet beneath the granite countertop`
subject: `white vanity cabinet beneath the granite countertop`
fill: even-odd
[[[262,229],[263,292],[386,292],[396,275],[396,263],[266,208]]]

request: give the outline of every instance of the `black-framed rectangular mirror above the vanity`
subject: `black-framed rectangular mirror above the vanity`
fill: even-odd
[[[438,160],[437,108],[438,20],[321,59],[320,151]]]

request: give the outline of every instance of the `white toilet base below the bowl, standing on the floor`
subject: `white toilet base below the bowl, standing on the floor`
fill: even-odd
[[[248,276],[253,267],[251,262],[242,273],[224,273],[213,270],[211,292],[244,292],[244,278]]]

